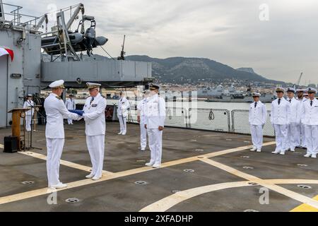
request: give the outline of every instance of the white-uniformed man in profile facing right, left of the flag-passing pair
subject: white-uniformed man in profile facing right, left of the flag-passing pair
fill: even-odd
[[[59,160],[64,146],[64,121],[71,118],[79,120],[78,114],[69,112],[61,94],[64,91],[64,81],[54,81],[49,84],[52,93],[45,99],[44,107],[47,114],[47,125],[45,126],[45,137],[47,140],[47,179],[49,187],[54,189],[63,189],[67,185],[59,181]]]

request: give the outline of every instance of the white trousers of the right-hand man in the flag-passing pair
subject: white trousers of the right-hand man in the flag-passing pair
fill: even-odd
[[[86,136],[90,161],[92,162],[92,174],[102,177],[102,165],[104,163],[105,135]]]

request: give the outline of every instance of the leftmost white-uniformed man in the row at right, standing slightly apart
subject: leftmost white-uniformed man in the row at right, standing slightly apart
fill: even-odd
[[[259,100],[260,96],[260,93],[252,93],[254,102],[249,105],[249,124],[253,143],[251,151],[257,150],[258,153],[261,152],[263,145],[263,127],[267,119],[266,106]]]

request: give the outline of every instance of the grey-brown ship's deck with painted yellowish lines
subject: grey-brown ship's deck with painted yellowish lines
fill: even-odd
[[[273,139],[264,138],[263,152],[252,153],[249,136],[166,128],[163,165],[152,169],[144,167],[150,152],[139,150],[139,126],[129,124],[126,136],[117,135],[117,128],[117,123],[107,123],[105,172],[93,182],[85,179],[90,157],[84,124],[65,125],[60,179],[69,186],[53,194],[47,189],[45,127],[33,133],[33,146],[42,150],[13,154],[2,152],[11,129],[1,129],[0,211],[318,210],[313,198],[318,194],[318,160],[302,157],[305,150],[272,155]],[[25,181],[34,183],[21,183]],[[261,204],[267,201],[266,188],[269,204]],[[57,204],[49,205],[48,197],[56,197]],[[79,201],[67,203],[67,198]]]

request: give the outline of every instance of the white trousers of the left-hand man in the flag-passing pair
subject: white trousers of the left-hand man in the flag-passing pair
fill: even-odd
[[[64,139],[47,138],[47,180],[49,187],[59,184],[59,160],[63,151]]]

